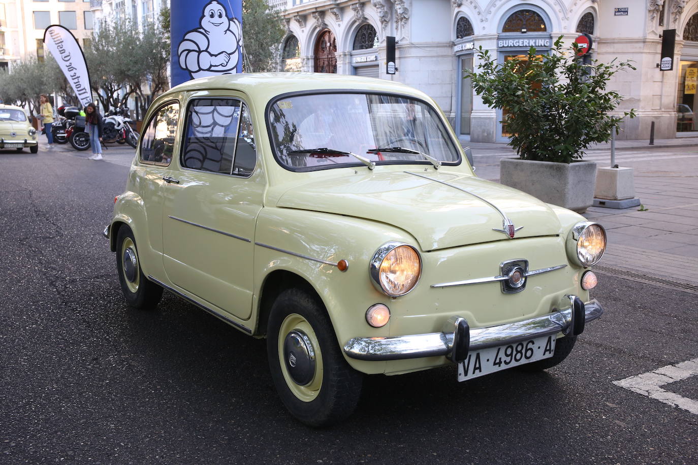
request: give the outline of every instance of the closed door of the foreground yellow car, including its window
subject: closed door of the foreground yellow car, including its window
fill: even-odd
[[[266,185],[249,108],[242,98],[199,92],[183,116],[179,170],[164,189],[165,272],[202,303],[248,319]]]

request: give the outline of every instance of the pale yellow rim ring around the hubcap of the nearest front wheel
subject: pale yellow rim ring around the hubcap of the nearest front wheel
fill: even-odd
[[[297,383],[291,376],[287,365],[288,360],[286,360],[284,353],[284,342],[286,337],[294,331],[303,333],[308,337],[315,356],[315,370],[312,379],[304,386]],[[279,328],[279,337],[277,338],[276,346],[279,353],[279,365],[281,365],[281,372],[283,373],[283,379],[286,381],[286,386],[288,386],[289,390],[293,392],[293,395],[298,397],[298,399],[302,400],[303,402],[313,401],[313,399],[318,397],[320,394],[323,373],[320,342],[318,342],[318,337],[315,335],[313,327],[310,325],[308,320],[297,313],[288,315],[288,317],[283,320],[283,323],[281,323],[281,328]]]

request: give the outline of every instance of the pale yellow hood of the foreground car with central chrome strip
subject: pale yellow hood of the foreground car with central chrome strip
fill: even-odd
[[[277,206],[366,218],[408,231],[422,250],[560,234],[544,202],[505,185],[445,171],[385,171],[325,178],[297,185]]]

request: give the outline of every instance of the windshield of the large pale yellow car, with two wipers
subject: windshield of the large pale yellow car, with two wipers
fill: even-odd
[[[276,159],[295,171],[361,165],[356,155],[364,158],[364,165],[433,163],[429,158],[457,165],[461,160],[436,110],[404,96],[283,97],[271,105],[267,117]]]

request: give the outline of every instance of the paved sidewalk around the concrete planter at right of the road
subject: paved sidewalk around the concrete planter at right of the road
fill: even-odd
[[[468,143],[463,143],[468,145]],[[478,176],[499,181],[499,159],[516,156],[506,144],[469,144]],[[609,166],[610,144],[597,144],[585,160]],[[584,216],[607,230],[599,270],[631,270],[673,282],[698,284],[698,137],[616,141],[616,163],[634,169],[639,207],[591,207]]]

